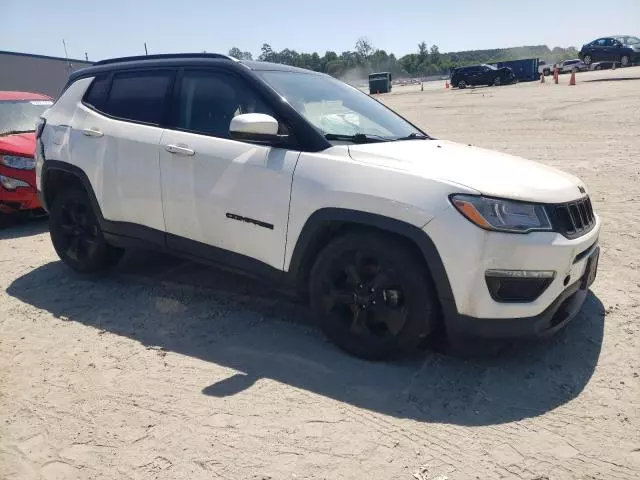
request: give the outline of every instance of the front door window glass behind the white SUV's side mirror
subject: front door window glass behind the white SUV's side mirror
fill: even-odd
[[[275,116],[258,94],[235,76],[215,71],[184,72],[175,120],[177,128],[230,138],[231,119],[243,113]]]

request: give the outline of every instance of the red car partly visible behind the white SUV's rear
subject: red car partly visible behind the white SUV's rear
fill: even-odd
[[[35,128],[52,103],[39,93],[0,92],[0,226],[9,215],[41,208],[33,159]]]

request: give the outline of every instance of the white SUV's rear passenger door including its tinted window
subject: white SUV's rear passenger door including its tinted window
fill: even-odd
[[[107,220],[164,231],[159,143],[171,69],[96,77],[73,118],[70,152]]]

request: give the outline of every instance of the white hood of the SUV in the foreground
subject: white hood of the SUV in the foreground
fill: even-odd
[[[541,163],[442,140],[349,145],[356,161],[464,185],[493,197],[563,203],[582,197],[583,183]]]

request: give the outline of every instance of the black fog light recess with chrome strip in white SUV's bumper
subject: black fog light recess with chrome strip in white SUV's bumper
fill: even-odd
[[[496,302],[533,302],[555,276],[551,270],[487,270],[485,281]]]

